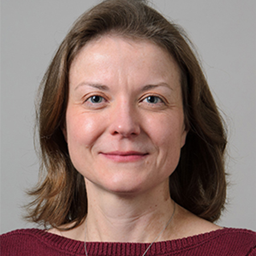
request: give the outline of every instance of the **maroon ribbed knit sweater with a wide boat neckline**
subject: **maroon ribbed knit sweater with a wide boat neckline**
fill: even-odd
[[[145,243],[86,243],[89,256],[142,256]],[[85,255],[84,243],[41,229],[20,229],[1,235],[1,256]],[[225,228],[172,241],[156,242],[146,256],[256,256],[256,233]]]

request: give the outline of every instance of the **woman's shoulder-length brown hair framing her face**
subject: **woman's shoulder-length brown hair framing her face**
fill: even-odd
[[[28,205],[27,218],[52,227],[73,223],[73,228],[86,216],[84,178],[72,165],[61,127],[65,122],[69,69],[74,57],[87,42],[110,32],[150,40],[167,49],[178,63],[189,132],[180,162],[169,179],[170,194],[187,210],[215,221],[226,197],[223,122],[182,29],[143,0],[106,0],[85,12],[49,65],[41,82],[37,110],[41,171],[45,170],[45,175],[29,192],[35,199]]]

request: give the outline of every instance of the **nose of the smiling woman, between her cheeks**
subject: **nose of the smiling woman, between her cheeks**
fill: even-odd
[[[128,102],[116,104],[111,113],[109,130],[113,136],[119,134],[125,138],[136,137],[140,134],[139,117],[132,104]]]

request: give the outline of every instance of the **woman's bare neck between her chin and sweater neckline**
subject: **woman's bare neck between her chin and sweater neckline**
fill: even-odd
[[[88,242],[152,242],[166,226],[174,210],[168,181],[136,196],[102,191],[88,180],[86,190]],[[168,239],[168,231],[165,231],[157,241]]]

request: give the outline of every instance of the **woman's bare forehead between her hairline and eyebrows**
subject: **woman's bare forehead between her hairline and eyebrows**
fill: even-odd
[[[180,77],[176,61],[166,49],[150,40],[115,34],[103,35],[88,42],[73,60],[69,75],[73,79],[81,71],[106,74],[118,70],[125,70],[127,75],[134,76]]]

